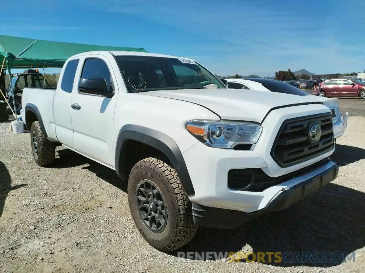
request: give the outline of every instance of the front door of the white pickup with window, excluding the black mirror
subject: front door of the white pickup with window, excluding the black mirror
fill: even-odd
[[[113,154],[113,120],[114,109],[118,98],[115,75],[111,64],[102,55],[88,55],[78,80],[104,78],[112,98],[100,95],[85,94],[77,86],[69,105],[72,116],[73,149],[90,158],[114,167]]]

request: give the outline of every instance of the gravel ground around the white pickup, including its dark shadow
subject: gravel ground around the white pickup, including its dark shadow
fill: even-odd
[[[355,262],[196,261],[161,253],[140,236],[126,185],[63,147],[35,164],[29,133],[0,123],[0,272],[365,272],[365,118],[350,116],[333,160],[338,178],[278,213],[234,230],[200,227],[183,251],[355,252]]]

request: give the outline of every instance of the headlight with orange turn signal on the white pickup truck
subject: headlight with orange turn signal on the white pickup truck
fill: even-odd
[[[226,149],[255,144],[262,133],[256,123],[223,120],[189,120],[185,129],[205,145]]]

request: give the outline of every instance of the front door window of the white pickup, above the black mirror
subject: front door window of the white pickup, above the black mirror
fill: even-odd
[[[84,68],[81,73],[82,79],[103,78],[109,87],[109,91],[113,92],[114,86],[111,74],[107,64],[101,59],[86,59]]]

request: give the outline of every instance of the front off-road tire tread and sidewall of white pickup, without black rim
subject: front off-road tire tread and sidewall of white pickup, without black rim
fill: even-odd
[[[136,191],[143,179],[152,181],[164,198],[167,223],[160,233],[151,231],[139,214]],[[128,203],[137,229],[155,249],[162,252],[177,250],[191,241],[196,234],[198,227],[193,221],[188,195],[176,170],[163,158],[145,158],[134,165],[128,178]]]

